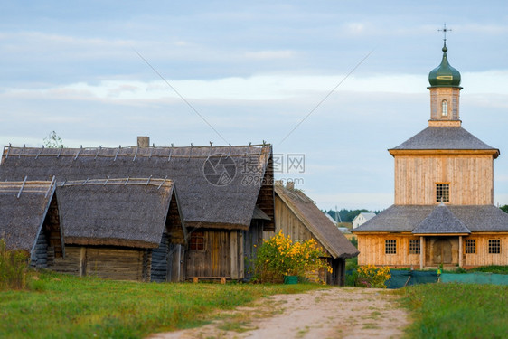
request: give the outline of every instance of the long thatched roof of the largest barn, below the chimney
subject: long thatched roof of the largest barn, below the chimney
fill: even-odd
[[[249,229],[256,204],[273,220],[271,146],[7,146],[0,180],[171,178],[189,227]],[[261,194],[263,193],[263,194]],[[262,199],[261,199],[262,195]],[[271,200],[270,200],[271,199]],[[272,221],[269,221],[272,222]]]

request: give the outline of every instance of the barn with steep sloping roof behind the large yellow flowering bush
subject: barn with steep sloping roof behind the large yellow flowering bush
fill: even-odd
[[[268,239],[278,231],[296,241],[316,240],[333,268],[332,273],[321,272],[320,278],[329,285],[344,285],[345,259],[356,257],[358,250],[294,183],[275,184],[275,232],[264,236]]]

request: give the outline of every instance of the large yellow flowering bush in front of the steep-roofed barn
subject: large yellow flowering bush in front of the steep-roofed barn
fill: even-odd
[[[254,268],[259,282],[281,283],[284,276],[306,277],[311,272],[332,268],[322,259],[326,254],[314,239],[293,241],[279,231],[259,246]]]

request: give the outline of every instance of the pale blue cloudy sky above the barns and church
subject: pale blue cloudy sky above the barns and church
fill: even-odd
[[[428,72],[461,72],[463,127],[501,150],[508,204],[505,1],[0,0],[0,144],[266,141],[321,209],[393,203],[387,149],[428,126]],[[505,153],[506,152],[506,153]]]

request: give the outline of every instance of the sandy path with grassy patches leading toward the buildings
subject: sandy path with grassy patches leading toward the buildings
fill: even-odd
[[[408,315],[390,291],[332,288],[267,297],[223,312],[210,325],[153,334],[150,339],[187,338],[399,338]]]

